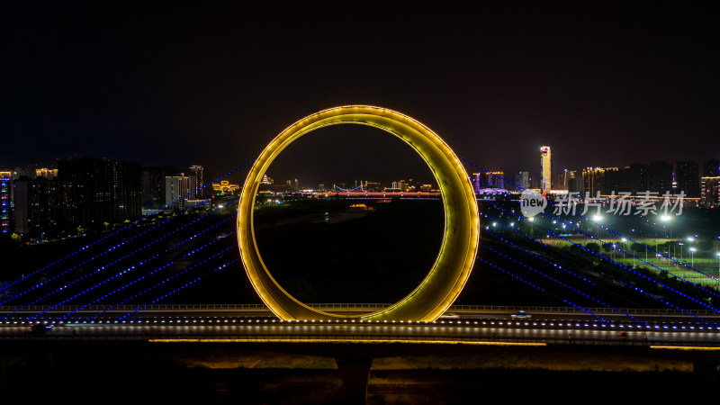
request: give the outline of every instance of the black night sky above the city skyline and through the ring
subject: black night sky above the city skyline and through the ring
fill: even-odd
[[[78,155],[220,175],[351,103],[506,173],[536,175],[542,145],[554,171],[701,162],[720,157],[707,3],[0,1],[0,167]],[[429,175],[356,126],[281,157],[268,174],[283,183]]]

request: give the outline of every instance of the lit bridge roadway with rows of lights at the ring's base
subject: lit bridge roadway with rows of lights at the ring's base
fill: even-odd
[[[204,307],[204,308],[200,308]],[[322,342],[432,342],[511,345],[612,345],[720,347],[718,318],[683,317],[667,311],[644,315],[605,317],[608,321],[579,316],[570,309],[545,309],[529,319],[510,316],[517,309],[454,308],[453,318],[435,322],[361,322],[360,320],[282,321],[262,306],[153,307],[121,319],[118,309],[91,318],[78,311],[59,320],[57,311],[35,320],[2,309],[3,340],[151,340],[151,341],[322,341]],[[96,310],[96,309],[95,309]],[[338,309],[336,309],[337,311]],[[127,313],[127,309],[123,309]],[[367,311],[345,308],[343,311]],[[641,311],[641,310],[638,310]],[[652,312],[652,313],[650,313]],[[0,311],[2,313],[2,311]],[[93,313],[97,313],[94,311]],[[23,316],[21,316],[23,315]],[[460,318],[455,318],[460,317]],[[31,329],[37,323],[48,329]]]

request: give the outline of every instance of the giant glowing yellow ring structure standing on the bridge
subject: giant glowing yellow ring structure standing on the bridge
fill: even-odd
[[[344,123],[369,125],[390,132],[415,149],[435,175],[445,211],[442,247],[422,283],[400,302],[382,311],[352,316],[317,311],[285,292],[260,257],[253,225],[257,190],[275,157],[312,130]],[[473,269],[479,228],[473,186],[464,166],[443,139],[407,115],[367,105],[348,105],[316,112],[285,129],[257,157],[238,203],[238,245],[242,263],[260,298],[282,320],[436,320],[463,290]],[[383,283],[383,280],[376,283]]]

